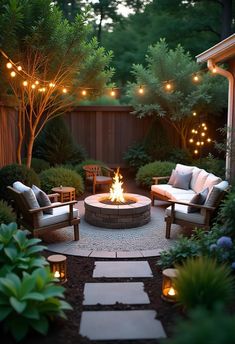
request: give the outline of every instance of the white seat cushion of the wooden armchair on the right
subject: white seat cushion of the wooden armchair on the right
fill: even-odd
[[[166,216],[171,216],[171,206],[166,208],[165,212]],[[200,212],[197,213],[188,213],[188,206],[176,204],[175,205],[175,218],[179,220],[185,220],[188,222],[192,222],[194,224],[203,225],[205,223],[205,216],[202,215]]]

